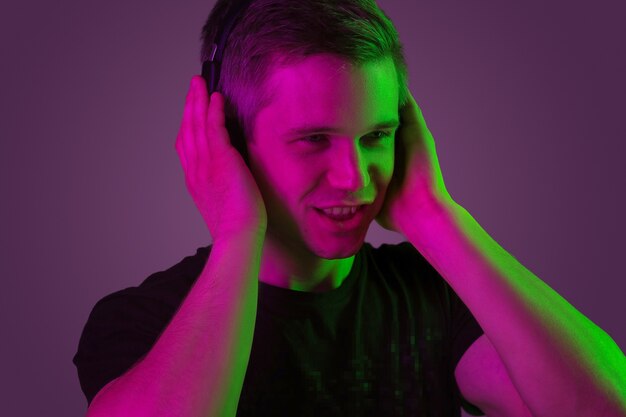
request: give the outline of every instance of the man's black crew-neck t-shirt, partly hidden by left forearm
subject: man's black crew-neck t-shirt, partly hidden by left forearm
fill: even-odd
[[[141,359],[204,268],[198,249],[94,306],[74,364],[87,401]],[[408,242],[365,243],[340,287],[300,292],[259,282],[238,417],[460,416],[454,369],[482,329]]]

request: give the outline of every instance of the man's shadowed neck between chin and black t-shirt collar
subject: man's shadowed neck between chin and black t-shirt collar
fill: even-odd
[[[343,259],[324,259],[303,248],[283,245],[266,237],[259,280],[290,290],[325,292],[341,285],[353,263],[354,255]]]

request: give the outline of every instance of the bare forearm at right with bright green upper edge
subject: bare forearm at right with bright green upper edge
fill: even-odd
[[[533,414],[600,416],[604,407],[607,415],[626,413],[626,361],[610,336],[465,209],[452,203],[430,213],[406,228],[407,238],[476,317]],[[587,409],[595,414],[581,413]]]

